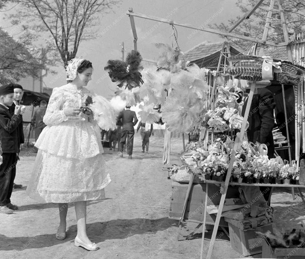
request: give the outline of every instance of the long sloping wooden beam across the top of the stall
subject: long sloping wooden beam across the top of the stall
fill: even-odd
[[[168,19],[151,16],[151,15],[145,15],[145,14],[141,14],[141,13],[134,13],[132,11],[128,11],[126,14],[129,16],[135,16],[135,17],[144,18],[144,19],[148,19],[148,20],[152,20],[152,21],[156,21],[156,22],[162,22],[162,23],[168,23],[168,24],[170,23],[170,20],[168,20]],[[194,30],[198,30],[198,31],[206,31],[206,32],[210,32],[210,33],[214,33],[214,34],[218,34],[218,35],[222,35],[222,36],[238,38],[238,39],[242,39],[242,40],[246,40],[246,41],[259,42],[259,43],[263,43],[268,46],[273,46],[273,47],[278,46],[278,44],[274,43],[273,41],[263,41],[263,40],[260,40],[257,38],[247,37],[247,36],[243,36],[243,35],[239,35],[239,34],[235,34],[235,33],[231,33],[231,32],[218,31],[218,30],[211,29],[211,28],[193,27],[188,23],[173,22],[173,25],[190,28],[190,29],[194,29]]]

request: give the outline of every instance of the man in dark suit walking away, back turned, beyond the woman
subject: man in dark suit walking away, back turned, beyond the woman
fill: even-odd
[[[134,111],[130,110],[130,106],[126,106],[126,109],[122,111],[119,116],[117,117],[117,120],[122,122],[122,136],[120,140],[120,156],[123,157],[123,147],[126,142],[126,148],[127,148],[127,154],[129,155],[128,158],[132,158],[132,149],[133,149],[133,138],[135,135],[135,128],[134,126],[138,122],[137,115]]]

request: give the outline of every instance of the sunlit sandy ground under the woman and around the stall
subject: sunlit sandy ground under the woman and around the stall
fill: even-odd
[[[179,163],[181,149],[181,139],[173,139],[170,164]],[[135,137],[132,160],[105,148],[112,182],[105,189],[106,200],[88,202],[88,236],[100,249],[87,251],[73,243],[77,230],[73,203],[69,204],[67,238],[60,241],[55,238],[59,223],[57,204],[39,204],[26,195],[36,154],[23,148],[15,182],[24,187],[12,194],[12,203],[20,209],[14,214],[0,214],[0,258],[200,258],[202,228],[191,240],[177,241],[178,221],[168,218],[171,181],[162,171],[162,150],[163,138],[152,136],[149,153],[141,153],[139,134]],[[279,228],[304,223],[304,206],[299,197],[292,200],[289,189],[276,189],[271,206]],[[196,225],[185,224],[183,235]],[[204,255],[211,232],[205,234]],[[221,238],[215,242],[212,258],[243,258],[232,250],[226,235],[218,235]]]

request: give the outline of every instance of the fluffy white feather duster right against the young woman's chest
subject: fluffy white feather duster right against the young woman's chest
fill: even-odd
[[[95,95],[92,101],[90,108],[99,127],[106,131],[117,128],[116,115],[110,102],[100,95]]]

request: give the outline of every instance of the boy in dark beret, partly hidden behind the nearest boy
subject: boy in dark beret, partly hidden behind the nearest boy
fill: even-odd
[[[22,88],[21,85],[18,85],[18,84],[10,83],[9,85],[11,85],[14,88],[14,101],[13,101],[12,106],[9,106],[9,112],[13,115],[14,111],[15,111],[16,105],[19,105],[20,102],[21,102],[21,99],[22,99],[22,96],[23,96],[23,88]],[[20,124],[18,125],[18,128],[17,128],[17,130],[18,130],[18,140],[19,140],[18,145],[19,145],[19,148],[20,148],[20,145],[24,143],[22,111],[21,111],[20,116],[21,116],[21,122],[20,122]],[[17,160],[19,160],[18,156],[17,156]],[[14,183],[13,188],[14,189],[22,188],[22,185]]]

